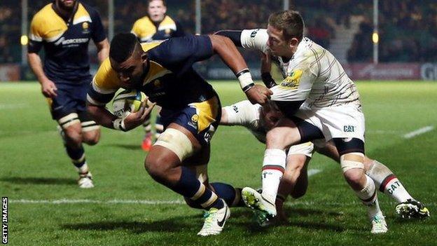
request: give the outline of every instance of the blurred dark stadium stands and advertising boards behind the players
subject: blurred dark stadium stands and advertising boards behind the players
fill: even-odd
[[[25,59],[29,21],[47,0],[0,1],[0,81],[34,80]],[[129,32],[146,15],[143,1],[84,0],[102,15],[109,38]],[[167,0],[167,14],[188,33],[265,27],[268,15],[284,8],[303,14],[306,35],[331,51],[349,76],[373,80],[437,79],[435,0]],[[377,36],[375,35],[377,34]],[[90,49],[95,46],[90,45]],[[95,54],[95,50],[90,50]],[[252,68],[258,54],[244,53]],[[93,68],[97,67],[95,56]],[[233,78],[221,62],[202,64],[207,78]],[[253,69],[255,76],[258,69]]]

